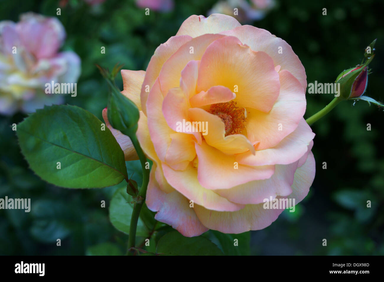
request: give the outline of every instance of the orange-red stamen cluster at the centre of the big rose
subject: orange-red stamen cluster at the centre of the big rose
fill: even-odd
[[[217,115],[224,122],[225,136],[240,134],[245,128],[245,113],[243,108],[236,107],[236,102],[217,103],[211,105],[209,113]]]

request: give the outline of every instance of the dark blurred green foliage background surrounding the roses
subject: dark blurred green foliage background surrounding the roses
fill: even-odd
[[[57,0],[0,1],[0,20],[17,21],[33,11],[56,16]],[[130,70],[145,70],[155,48],[175,35],[190,15],[206,15],[215,0],[176,1],[170,13],[149,16],[134,1],[106,0],[92,8],[70,0],[59,20],[67,32],[62,50],[82,60],[78,105],[101,118],[108,87],[94,63],[110,69],[117,62]],[[327,8],[327,15],[322,9]],[[384,2],[359,0],[278,2],[263,20],[253,23],[288,42],[303,63],[308,83],[333,82],[344,69],[361,62],[364,48],[377,38],[370,64],[367,95],[383,101]],[[106,47],[106,54],[100,47]],[[122,88],[121,77],[118,85]],[[309,117],[332,99],[307,94]],[[127,235],[109,223],[109,200],[116,187],[70,190],[46,184],[28,169],[20,154],[12,123],[25,115],[0,116],[0,198],[31,198],[30,213],[0,210],[0,254],[92,254],[89,247],[112,242],[124,250]],[[384,112],[366,102],[343,102],[313,125],[316,177],[310,194],[283,212],[271,226],[253,231],[253,255],[383,255],[384,254]],[[60,120],[55,122],[60,123]],[[367,131],[367,123],[372,130]],[[322,163],[327,169],[322,169]],[[127,163],[129,167],[131,164]],[[137,177],[136,174],[135,177]],[[100,201],[106,200],[106,208]],[[371,200],[372,207],[366,207]],[[61,247],[56,247],[61,238]],[[322,240],[327,239],[323,247]]]

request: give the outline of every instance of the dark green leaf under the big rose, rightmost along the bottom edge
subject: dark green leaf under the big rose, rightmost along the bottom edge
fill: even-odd
[[[216,230],[210,230],[218,239],[225,255],[250,255],[251,232],[240,234],[225,234]],[[237,246],[235,246],[237,239]]]

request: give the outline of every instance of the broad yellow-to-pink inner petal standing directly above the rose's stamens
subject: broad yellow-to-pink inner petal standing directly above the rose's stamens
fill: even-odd
[[[271,57],[252,51],[233,36],[215,40],[201,58],[196,91],[215,85],[233,89],[238,107],[263,112],[272,108],[280,90]]]

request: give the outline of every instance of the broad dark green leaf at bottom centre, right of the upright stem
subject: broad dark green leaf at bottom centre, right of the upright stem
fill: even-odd
[[[177,231],[169,232],[159,240],[157,254],[166,255],[223,255],[222,251],[202,236],[184,237]]]

